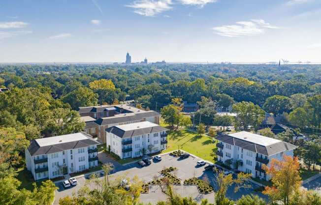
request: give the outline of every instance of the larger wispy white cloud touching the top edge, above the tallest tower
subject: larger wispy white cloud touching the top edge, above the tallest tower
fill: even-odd
[[[143,16],[155,16],[161,12],[172,9],[172,0],[135,0],[126,5],[134,8],[134,12]]]

